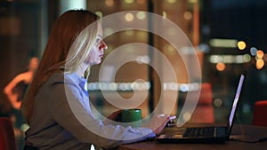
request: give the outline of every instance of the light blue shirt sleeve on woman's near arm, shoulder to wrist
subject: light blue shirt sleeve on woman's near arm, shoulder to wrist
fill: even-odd
[[[89,99],[85,99],[77,85],[65,84],[64,87],[64,83],[60,83],[54,85],[52,91],[53,119],[81,142],[108,148],[155,137],[149,128],[115,126],[95,119]]]

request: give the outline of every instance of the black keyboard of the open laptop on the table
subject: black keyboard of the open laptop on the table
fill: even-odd
[[[214,137],[214,127],[188,128],[184,131],[183,137]]]

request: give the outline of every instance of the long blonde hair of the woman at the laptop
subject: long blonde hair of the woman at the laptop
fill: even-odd
[[[33,113],[36,93],[54,73],[77,71],[81,62],[89,56],[97,36],[98,16],[85,10],[64,12],[56,20],[49,36],[44,55],[22,103],[26,120]],[[90,25],[90,26],[89,26]],[[90,67],[85,71],[88,77]]]

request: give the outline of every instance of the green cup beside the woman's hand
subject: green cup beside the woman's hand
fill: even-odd
[[[124,109],[121,113],[122,122],[129,122],[133,127],[142,126],[142,110],[141,109]]]

